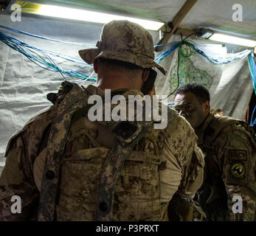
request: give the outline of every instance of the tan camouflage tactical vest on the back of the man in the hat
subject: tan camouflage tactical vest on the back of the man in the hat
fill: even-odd
[[[74,114],[77,109],[81,107],[70,113]],[[168,119],[170,118],[171,115],[168,114]],[[60,121],[58,116],[55,119]],[[107,210],[109,207],[108,204],[104,205],[105,201],[99,200],[99,196],[101,199],[105,195],[104,183],[106,186],[109,184],[108,178],[103,181],[102,173],[105,168],[105,172],[109,174],[109,167],[105,167],[105,163],[109,159],[109,153],[113,152],[114,142],[125,139],[122,139],[122,135],[121,139],[114,139],[113,130],[106,129],[97,122],[89,122],[86,114],[73,119],[73,122],[70,119],[69,122],[71,124],[66,128],[66,137],[62,137],[61,142],[56,142],[55,133],[58,134],[59,131],[50,131],[47,147],[35,159],[35,183],[38,190],[42,190],[38,216],[41,221],[94,221],[97,219],[99,205],[103,213],[104,208]],[[117,134],[118,130],[115,132]],[[63,134],[62,131],[59,133]],[[161,218],[159,201],[159,168],[162,167],[159,156],[164,137],[163,131],[154,130],[153,125],[148,125],[148,131],[143,134],[143,138],[139,138],[142,140],[134,142],[133,150],[125,157],[120,172],[117,173],[114,192],[110,195],[110,216],[103,217],[102,220],[167,220]],[[122,150],[116,152],[125,155],[129,146],[129,143],[121,145]],[[120,148],[117,145],[115,147]],[[56,148],[58,152],[54,150]],[[103,190],[100,190],[100,184]],[[55,186],[58,187],[54,191],[52,188]]]

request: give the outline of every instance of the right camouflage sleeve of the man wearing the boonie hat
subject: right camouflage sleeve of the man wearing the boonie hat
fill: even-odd
[[[193,128],[183,117],[168,122],[161,158],[166,161],[166,169],[160,170],[161,201],[170,201],[175,192],[193,197],[203,182],[204,158]]]

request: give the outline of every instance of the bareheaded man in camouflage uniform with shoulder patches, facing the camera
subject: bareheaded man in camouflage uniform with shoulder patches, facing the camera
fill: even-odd
[[[241,120],[210,114],[210,94],[200,84],[185,84],[175,96],[175,110],[195,129],[205,156],[204,184],[194,199],[204,217],[208,221],[254,221],[256,149],[252,128]],[[243,201],[236,203],[238,199]]]

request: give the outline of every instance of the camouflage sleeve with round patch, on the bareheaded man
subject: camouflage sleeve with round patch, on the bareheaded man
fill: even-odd
[[[224,128],[214,144],[223,171],[227,193],[226,221],[254,221],[255,218],[255,144],[252,136],[237,123]]]

